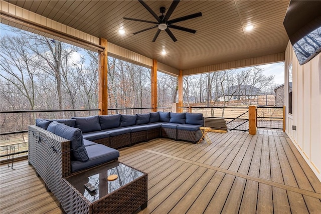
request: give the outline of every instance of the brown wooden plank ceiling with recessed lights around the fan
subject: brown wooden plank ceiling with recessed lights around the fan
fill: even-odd
[[[170,20],[198,12],[203,16],[177,23],[197,32],[171,29],[175,43],[165,31],[152,43],[157,28],[132,35],[154,24],[123,17],[155,22],[138,1],[7,2],[181,70],[283,53],[288,43],[282,23],[289,1],[182,1]],[[172,1],[145,3],[161,15],[159,8],[169,9]],[[252,31],[245,30],[248,25]]]

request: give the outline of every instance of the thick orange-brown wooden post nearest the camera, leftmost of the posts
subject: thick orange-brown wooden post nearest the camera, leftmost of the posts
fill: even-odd
[[[98,52],[98,107],[99,115],[108,114],[108,91],[107,91],[107,40],[99,39],[99,45],[104,47]]]

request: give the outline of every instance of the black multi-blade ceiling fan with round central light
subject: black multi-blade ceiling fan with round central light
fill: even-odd
[[[154,26],[152,26],[150,28],[146,28],[146,29],[137,31],[137,32],[133,33],[133,35],[136,35],[136,34],[139,34],[141,32],[148,31],[150,29],[154,29],[154,28],[158,27],[157,32],[156,32],[156,34],[155,34],[155,36],[154,36],[154,38],[152,39],[151,42],[155,42],[156,41],[159,33],[161,33],[162,30],[165,30],[166,33],[172,38],[172,40],[174,42],[176,42],[177,39],[173,35],[173,33],[171,32],[170,28],[173,28],[173,29],[176,29],[176,30],[180,30],[180,31],[186,31],[186,32],[189,32],[189,33],[192,33],[192,34],[196,33],[195,30],[192,30],[192,29],[189,29],[189,28],[184,28],[184,27],[181,27],[181,26],[173,25],[173,24],[174,23],[178,23],[178,22],[182,22],[182,21],[185,21],[185,20],[201,17],[202,16],[201,12],[196,13],[196,14],[191,14],[191,15],[188,15],[188,16],[184,16],[184,17],[180,17],[180,18],[176,18],[176,19],[173,19],[173,20],[169,20],[171,15],[172,15],[172,13],[174,12],[175,8],[177,7],[177,5],[179,4],[180,1],[173,1],[171,7],[169,8],[169,10],[167,11],[165,16],[164,16],[164,14],[166,12],[166,8],[165,7],[161,7],[159,9],[159,12],[161,12],[162,15],[159,16],[159,17],[148,7],[148,5],[146,5],[146,3],[144,3],[141,0],[138,0],[138,2],[142,6],[144,6],[144,8],[156,19],[157,22],[152,22],[152,21],[148,21],[148,20],[138,20],[138,19],[124,17],[124,20],[131,20],[131,21],[155,24]]]

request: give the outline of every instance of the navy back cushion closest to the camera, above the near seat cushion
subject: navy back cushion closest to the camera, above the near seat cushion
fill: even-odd
[[[87,161],[89,159],[80,129],[59,123],[56,126],[56,134],[70,140],[73,160]]]

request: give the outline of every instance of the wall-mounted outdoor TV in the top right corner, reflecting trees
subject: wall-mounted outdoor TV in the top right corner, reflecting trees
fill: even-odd
[[[321,52],[321,1],[291,1],[283,25],[300,65]]]

